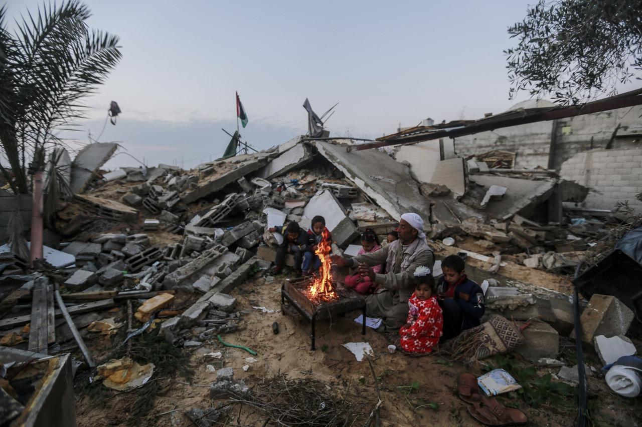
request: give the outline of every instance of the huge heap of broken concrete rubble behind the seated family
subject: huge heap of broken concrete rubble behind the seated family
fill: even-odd
[[[238,310],[230,292],[275,260],[282,236],[270,228],[297,222],[307,230],[312,217],[322,215],[333,236],[333,252],[343,254],[351,244],[360,243],[363,231],[372,229],[385,241],[402,213],[416,212],[424,219],[424,231],[438,256],[457,253],[482,263],[488,314],[525,328],[517,353],[557,369],[562,364],[556,360],[560,342],[574,337],[575,322],[568,292],[560,292],[553,282],[568,283],[568,274],[579,263],[595,258],[591,248],[596,245],[602,252],[613,249],[615,242],[607,247],[605,241],[623,223],[618,215],[574,207],[586,197],[587,188],[548,171],[510,169],[514,153],[497,151],[440,164],[447,180],[442,175],[419,181],[413,169],[421,163],[398,162],[395,153],[349,151],[345,144],[303,137],[190,171],[161,164],[100,172],[114,147],[92,145],[98,146],[98,154],[92,148],[79,154],[92,174],[74,172],[79,166],[73,163],[69,179],[80,181],[72,185],[76,194],[60,201],[49,230],[55,238],[45,240],[51,245],[45,246],[46,268],[31,268],[24,254],[8,244],[0,247],[0,283],[8,290],[3,295],[6,301],[30,299],[35,306],[36,293],[29,297],[30,291],[37,289],[40,278],[49,278],[51,285],[42,300],[45,308],[47,299],[53,301],[59,290],[75,316],[95,315],[123,301],[138,300],[128,319],[127,340],[159,328],[160,337],[186,349],[216,339],[223,342],[222,334],[243,327],[245,312]],[[293,262],[288,256],[286,265],[293,267]],[[530,277],[535,269],[550,274],[546,283]],[[439,274],[438,265],[434,274]],[[507,286],[511,282],[501,279],[500,285],[500,278],[517,283]],[[590,301],[582,314],[582,341],[598,347],[603,360],[614,357],[605,344],[613,337],[632,354],[624,335],[634,312],[618,297],[602,293],[606,292],[585,294]],[[47,330],[48,321],[38,326],[31,305],[3,304],[3,344],[18,345],[28,339],[25,349],[57,351],[51,347],[53,342],[60,344],[55,327],[44,344],[32,346],[33,334],[24,325],[31,322],[31,331]],[[82,319],[76,326],[107,319],[107,331],[114,335],[124,323],[116,326],[114,315],[101,315],[89,322]],[[49,320],[49,328],[56,316]],[[74,347],[71,339],[67,337],[60,351]],[[82,349],[80,342],[78,346]],[[112,365],[116,362],[101,365],[105,378],[114,376]],[[153,372],[153,366],[150,369]],[[225,369],[216,374],[213,399],[249,396],[243,381],[233,380]],[[192,411],[190,417],[202,412]]]

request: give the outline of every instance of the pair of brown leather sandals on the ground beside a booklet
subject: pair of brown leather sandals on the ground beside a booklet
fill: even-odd
[[[459,377],[459,398],[466,403],[468,413],[482,424],[487,426],[516,426],[526,424],[526,415],[518,409],[506,408],[497,401],[489,399],[482,394],[477,383],[477,377],[464,373]]]

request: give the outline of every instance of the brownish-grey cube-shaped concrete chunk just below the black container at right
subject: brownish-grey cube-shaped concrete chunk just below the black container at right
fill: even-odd
[[[625,335],[633,318],[634,313],[631,309],[616,297],[593,294],[589,305],[580,316],[582,342],[592,344],[597,335]],[[571,331],[571,338],[575,338],[575,328]]]

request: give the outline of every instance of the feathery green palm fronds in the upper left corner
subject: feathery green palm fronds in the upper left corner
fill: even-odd
[[[26,163],[58,143],[53,131],[84,117],[82,98],[96,92],[121,58],[119,38],[91,30],[78,0],[28,12],[12,34],[0,8],[0,143],[13,192],[28,193]],[[31,169],[44,165],[32,164]]]

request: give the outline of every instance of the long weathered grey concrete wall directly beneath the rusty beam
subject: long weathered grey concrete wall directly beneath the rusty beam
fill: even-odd
[[[555,128],[552,166],[559,170],[564,161],[578,153],[606,147],[618,124],[621,127],[614,138],[613,148],[634,147],[642,138],[641,115],[642,106],[633,106],[557,121],[510,126],[455,138],[455,152],[466,157],[492,150],[512,151],[517,153],[518,169],[548,168],[551,136]]]

